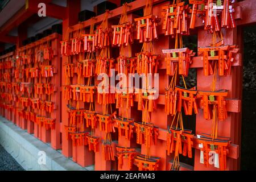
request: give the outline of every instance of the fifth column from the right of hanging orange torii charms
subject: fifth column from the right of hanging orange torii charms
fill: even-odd
[[[113,39],[112,28],[108,23],[109,11],[107,10],[104,16],[104,20],[96,30],[96,47],[101,49],[100,56],[96,57],[96,75],[105,73],[109,77],[111,76],[110,69],[114,68],[114,59],[111,58],[111,44]],[[109,83],[108,83],[109,85]],[[110,87],[111,88],[111,87]],[[106,133],[104,140],[102,140],[102,156],[105,160],[115,160],[112,134],[115,132],[114,117],[112,104],[115,103],[115,94],[112,90],[102,86],[102,92],[97,93],[97,103],[102,105],[102,114],[98,113],[100,131]],[[106,92],[105,92],[106,91]]]

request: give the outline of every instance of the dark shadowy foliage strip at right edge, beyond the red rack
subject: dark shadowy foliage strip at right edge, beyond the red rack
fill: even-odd
[[[256,166],[256,26],[243,27],[241,170]]]

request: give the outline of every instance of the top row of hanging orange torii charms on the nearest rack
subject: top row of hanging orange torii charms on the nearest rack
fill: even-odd
[[[234,28],[233,0],[189,0],[185,5],[182,0],[174,0],[172,5],[162,7],[163,25],[165,35],[175,37],[176,34],[189,35],[189,28],[195,28],[196,16],[202,19],[205,30],[209,32],[220,31],[221,28]],[[192,5],[192,7],[189,7]],[[191,18],[189,18],[191,15]],[[108,15],[107,15],[108,16]],[[140,43],[158,39],[156,26],[160,22],[158,16],[148,14],[141,18],[135,18],[137,23],[137,35],[133,37],[133,25],[131,22],[119,23],[117,26],[98,27],[90,34],[84,34],[82,38],[73,38],[61,42],[61,55],[77,55],[81,52],[94,52],[106,46],[121,46],[133,42]],[[105,24],[105,23],[104,23]]]

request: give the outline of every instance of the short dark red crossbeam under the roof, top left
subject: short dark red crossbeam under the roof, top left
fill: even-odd
[[[59,5],[55,5],[52,3],[48,3],[51,1],[43,1],[46,3],[46,16],[56,18],[56,19],[66,19],[67,18],[67,8]],[[40,9],[38,4],[42,3],[42,1],[38,0],[28,0],[26,4],[26,9],[31,13],[38,13]],[[78,13],[78,12],[77,12]]]

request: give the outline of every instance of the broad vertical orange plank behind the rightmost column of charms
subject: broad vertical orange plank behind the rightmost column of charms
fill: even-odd
[[[224,44],[233,45],[236,44],[237,30],[236,28],[225,30],[224,29]],[[209,46],[212,41],[212,36],[207,33],[207,31],[199,30],[198,31],[198,47]],[[241,87],[237,87],[237,79],[242,77],[241,73],[236,75],[234,67],[232,67],[231,75],[226,77],[217,76],[216,90],[218,89],[228,89],[227,98],[235,98],[236,93]],[[213,76],[204,76],[203,68],[197,69],[197,89],[198,90],[210,90],[210,84],[212,83]],[[240,85],[241,86],[241,85]],[[241,115],[241,113],[236,113],[236,115]],[[228,113],[228,118],[225,121],[218,121],[218,136],[222,137],[231,137],[232,142],[234,143],[234,129],[233,126],[236,126],[240,123],[239,119],[235,117],[234,113]],[[203,111],[199,110],[199,113],[196,115],[196,134],[200,133],[209,133],[211,131],[212,121],[207,121],[203,117]],[[239,137],[238,137],[239,138]],[[235,159],[227,159],[227,169],[236,170],[237,166],[234,166]],[[200,163],[200,151],[195,151],[195,170],[217,170],[213,166],[210,168],[205,168],[204,164]]]

